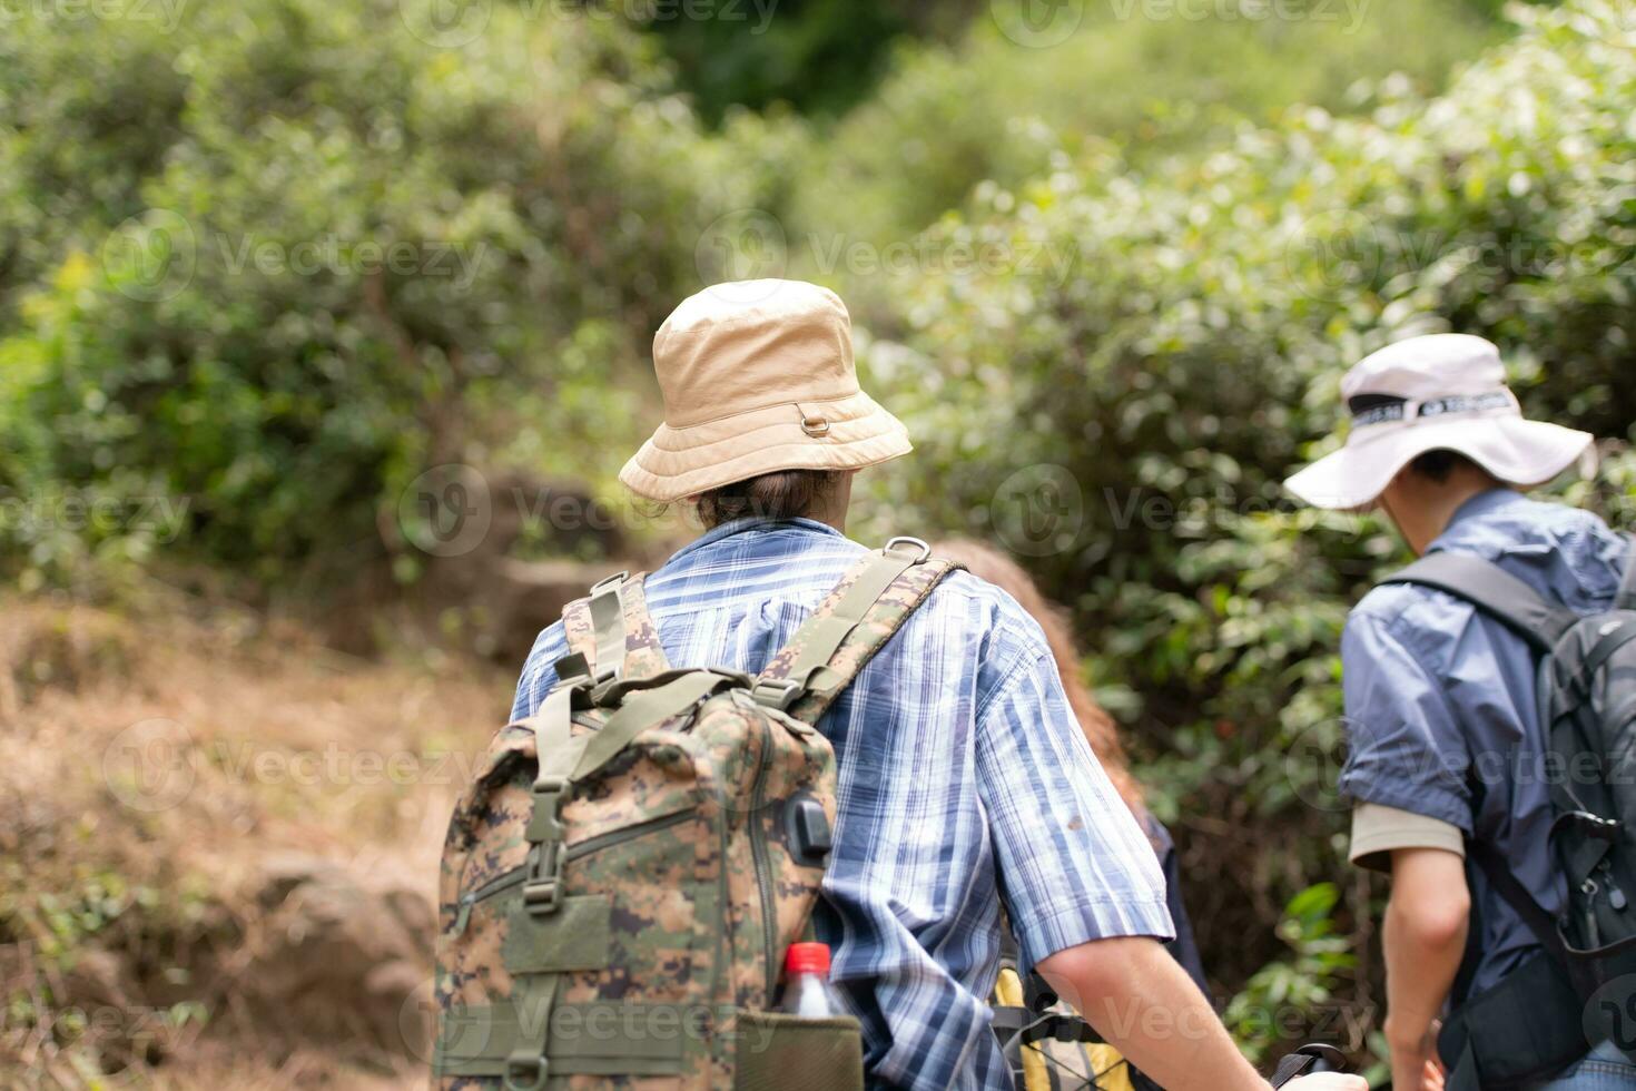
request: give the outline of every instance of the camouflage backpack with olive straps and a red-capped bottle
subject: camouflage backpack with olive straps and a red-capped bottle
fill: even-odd
[[[854,1019],[769,1011],[831,844],[811,725],[954,568],[895,538],[754,679],[671,669],[640,576],[568,607],[560,684],[450,823],[438,1086],[862,1086]]]

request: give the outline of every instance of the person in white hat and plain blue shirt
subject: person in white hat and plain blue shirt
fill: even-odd
[[[1556,708],[1538,692],[1544,648],[1566,648],[1544,631],[1597,628],[1636,604],[1636,566],[1595,515],[1520,489],[1590,466],[1593,437],[1526,420],[1481,337],[1382,348],[1342,394],[1345,447],[1286,487],[1317,507],[1384,512],[1425,558],[1366,595],[1342,636],[1351,859],[1392,875],[1392,1086],[1636,1088],[1621,1044],[1587,1029],[1593,1006],[1541,924],[1571,905],[1572,846],[1548,834],[1562,783],[1551,762],[1587,756],[1541,713]]]

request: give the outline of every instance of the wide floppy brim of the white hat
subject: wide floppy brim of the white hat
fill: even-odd
[[[1404,466],[1438,450],[1466,455],[1505,484],[1531,487],[1566,471],[1593,442],[1589,432],[1521,417],[1448,420],[1355,440],[1284,487],[1312,507],[1360,510],[1379,501]]]

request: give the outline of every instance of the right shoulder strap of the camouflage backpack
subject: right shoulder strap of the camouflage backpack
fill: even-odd
[[[849,571],[756,679],[756,700],[816,723],[937,584],[962,568],[893,538]]]

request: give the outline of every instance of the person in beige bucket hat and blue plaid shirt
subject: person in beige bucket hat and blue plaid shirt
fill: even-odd
[[[654,754],[671,754],[654,761],[666,777],[712,756],[731,759],[725,767],[739,772],[766,770],[754,788],[721,780],[712,782],[717,795],[700,797],[700,813],[715,798],[710,813],[721,821],[754,815],[743,837],[731,837],[741,849],[733,852],[733,882],[723,880],[721,911],[744,883],[761,887],[764,900],[744,901],[746,926],[730,937],[695,942],[694,914],[671,914],[685,924],[682,949],[728,952],[725,963],[671,960],[677,973],[708,972],[728,983],[728,996],[738,988],[756,1004],[769,1003],[777,936],[802,927],[797,895],[810,890],[810,872],[793,882],[779,869],[797,857],[813,867],[808,855],[816,854],[823,875],[810,927],[831,947],[833,981],[861,1026],[847,1030],[849,1019],[831,1019],[838,1026],[816,1045],[779,1052],[774,1044],[766,1065],[779,1058],[797,1068],[756,1086],[797,1078],[815,1088],[1013,1086],[1006,1042],[987,1004],[1001,959],[1003,903],[1024,973],[1037,967],[1058,994],[1096,996],[1109,1009],[1158,1006],[1189,1027],[1186,1048],[1144,1021],[1109,1017],[1101,1027],[1158,1083],[1175,1091],[1268,1091],[1162,945],[1175,927],[1153,847],[1086,746],[1039,623],[1016,599],[933,556],[919,540],[867,550],[844,535],[852,474],[906,455],[910,440],[859,388],[847,312],[834,293],[782,280],[718,285],[666,319],[653,361],[664,424],[620,478],[641,497],[690,504],[705,530],[649,576],[610,576],[571,604],[564,622],[535,643],[512,718],[630,698],[614,716],[635,730],[643,723],[631,712],[638,702],[653,705],[672,687],[694,700],[703,690],[687,687],[708,674],[712,687],[731,689],[735,723],[751,716],[769,728],[744,734],[753,751],[687,734],[681,762],[679,730],[661,731],[654,746]],[[777,716],[769,720],[769,710]],[[556,723],[555,738],[566,744],[574,738],[569,725]],[[602,743],[612,730],[609,720],[591,738]],[[769,765],[774,752],[787,754],[790,738],[829,759],[807,767],[807,780],[792,774],[787,756]],[[772,795],[749,811],[723,806],[723,783]],[[797,783],[818,785],[805,805],[779,795]],[[674,793],[654,787],[651,795]],[[833,810],[833,844],[815,808]],[[677,872],[661,849],[633,842],[622,851],[633,862],[663,860],[640,867],[658,869],[666,882],[695,870],[692,855]],[[571,880],[573,870],[568,901],[578,893]],[[695,885],[677,887],[690,898]],[[674,924],[617,908],[618,936],[651,927],[659,949],[672,949]],[[607,908],[600,913],[599,950],[607,950]],[[707,926],[702,911],[699,924]],[[723,939],[731,942],[723,947]],[[636,983],[620,985],[625,994]],[[815,1029],[823,1030],[807,1027]],[[864,1071],[841,1063],[859,1052]],[[798,1057],[818,1053],[833,1060],[800,1070]],[[656,1053],[631,1057],[651,1063]],[[1361,1080],[1332,1075],[1289,1086],[1364,1091]]]

